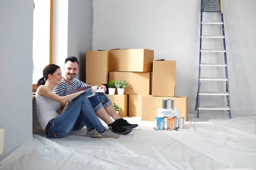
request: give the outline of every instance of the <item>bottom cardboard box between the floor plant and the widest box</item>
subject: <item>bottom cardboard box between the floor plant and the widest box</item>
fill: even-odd
[[[143,96],[149,96],[149,95],[129,95],[129,109],[128,109],[128,116],[136,116],[136,117],[141,117],[142,113],[142,99]]]

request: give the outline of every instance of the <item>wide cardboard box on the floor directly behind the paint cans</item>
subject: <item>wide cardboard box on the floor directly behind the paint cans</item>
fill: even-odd
[[[188,120],[189,97],[188,96],[175,96],[175,97],[156,97],[156,96],[143,96],[142,99],[142,113],[141,120],[155,121],[157,116],[157,109],[163,108],[163,99],[174,99],[174,108],[180,109],[180,116]]]

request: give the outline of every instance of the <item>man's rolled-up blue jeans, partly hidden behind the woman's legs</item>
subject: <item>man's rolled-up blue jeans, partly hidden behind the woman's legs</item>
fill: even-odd
[[[112,102],[109,100],[108,95],[105,93],[96,93],[95,96],[91,96],[88,99],[95,113],[99,111],[99,109],[101,109],[102,107],[107,108],[109,105],[112,105]],[[80,130],[84,126],[86,125],[83,121],[82,114],[80,114],[77,118],[76,125],[74,126],[73,130]],[[87,129],[90,128],[87,127]]]

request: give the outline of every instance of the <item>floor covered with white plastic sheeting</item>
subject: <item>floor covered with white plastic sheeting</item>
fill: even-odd
[[[139,127],[119,139],[84,137],[86,128],[63,139],[34,130],[0,170],[256,169],[256,115],[190,114],[178,131],[154,131],[155,122],[125,119]]]

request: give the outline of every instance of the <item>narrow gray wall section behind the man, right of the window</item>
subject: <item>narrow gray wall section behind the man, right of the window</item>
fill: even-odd
[[[92,0],[68,1],[67,55],[79,59],[77,78],[85,82],[85,54],[92,50]]]

